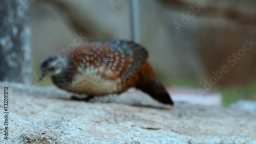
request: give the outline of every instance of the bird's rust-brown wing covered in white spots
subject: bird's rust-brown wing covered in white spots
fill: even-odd
[[[142,46],[121,40],[87,42],[75,49],[74,55],[72,59],[84,67],[88,67],[88,63],[94,68],[101,67],[98,73],[109,80],[126,79],[138,73],[148,58]]]

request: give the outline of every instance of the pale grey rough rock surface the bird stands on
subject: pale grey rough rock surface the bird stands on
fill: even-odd
[[[169,107],[135,90],[114,103],[85,103],[55,87],[5,86],[9,135],[1,116],[1,143],[256,143],[255,110],[238,106]],[[2,114],[3,105],[2,97]]]

